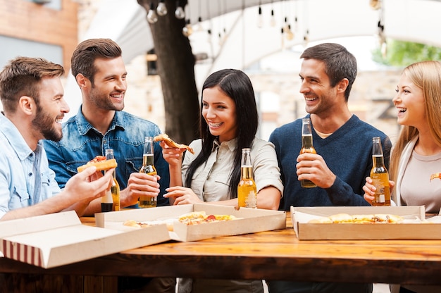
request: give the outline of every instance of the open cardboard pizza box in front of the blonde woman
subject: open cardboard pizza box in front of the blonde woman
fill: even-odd
[[[309,223],[320,217],[390,214],[403,223]],[[424,206],[291,206],[292,223],[301,240],[441,239],[441,216],[426,220]]]

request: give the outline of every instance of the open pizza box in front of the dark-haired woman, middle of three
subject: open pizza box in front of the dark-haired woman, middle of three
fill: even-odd
[[[205,211],[206,215],[232,215],[237,219],[197,225],[185,225],[178,218],[185,213]],[[95,221],[98,227],[120,229],[127,220],[137,222],[173,220],[170,239],[188,242],[213,237],[241,235],[286,227],[285,211],[270,211],[260,208],[240,208],[213,204],[185,204],[180,206],[162,206],[157,208],[137,208],[126,211],[97,213]],[[131,229],[139,229],[129,227]],[[143,230],[143,228],[141,228]]]

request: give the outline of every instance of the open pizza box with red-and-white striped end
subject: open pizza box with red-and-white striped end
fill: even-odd
[[[6,258],[53,268],[169,239],[166,225],[118,231],[82,225],[75,211],[0,221],[0,251]]]

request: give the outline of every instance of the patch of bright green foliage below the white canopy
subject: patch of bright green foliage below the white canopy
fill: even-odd
[[[385,58],[380,47],[372,52],[373,61],[387,66],[408,66],[411,63],[425,60],[441,60],[441,48],[387,39]]]

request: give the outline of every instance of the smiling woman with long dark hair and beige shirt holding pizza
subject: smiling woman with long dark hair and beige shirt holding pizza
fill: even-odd
[[[201,139],[184,149],[163,147],[170,168],[170,187],[164,197],[170,204],[210,202],[237,206],[240,160],[243,148],[251,148],[257,207],[278,209],[283,185],[273,144],[255,137],[259,127],[254,89],[240,70],[211,74],[202,87]],[[183,184],[185,183],[185,184]],[[193,280],[180,292],[263,292],[261,280]],[[182,291],[181,291],[182,290]]]

